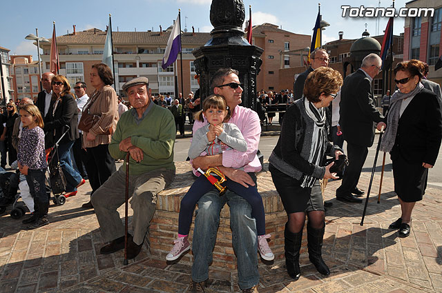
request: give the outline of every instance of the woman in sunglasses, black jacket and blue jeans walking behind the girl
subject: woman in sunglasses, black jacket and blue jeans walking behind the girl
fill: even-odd
[[[77,194],[77,187],[85,183],[81,175],[74,170],[70,160],[70,149],[78,134],[77,102],[70,94],[70,85],[66,77],[56,75],[52,78],[52,100],[48,114],[44,118],[45,145],[50,148],[61,135],[66,132],[59,142],[57,151],[61,169],[66,177],[66,197]],[[69,129],[66,127],[68,126]]]

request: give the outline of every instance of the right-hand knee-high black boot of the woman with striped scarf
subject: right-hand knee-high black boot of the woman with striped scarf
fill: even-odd
[[[314,229],[307,224],[307,247],[309,247],[309,260],[315,265],[318,272],[328,276],[330,274],[330,270],[325,264],[321,253],[323,248],[324,232],[325,225],[322,229]]]

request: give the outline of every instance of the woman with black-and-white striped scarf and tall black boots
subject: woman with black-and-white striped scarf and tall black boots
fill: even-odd
[[[321,249],[325,232],[325,210],[318,179],[337,179],[323,167],[324,154],[343,154],[327,139],[329,121],[327,106],[343,84],[340,73],[321,67],[311,72],[304,85],[302,99],[295,101],[285,113],[278,143],[269,158],[269,170],[282,205],[287,212],[285,224],[285,263],[293,279],[299,279],[299,252],[302,228],[307,214],[309,259],[316,270],[329,275]]]

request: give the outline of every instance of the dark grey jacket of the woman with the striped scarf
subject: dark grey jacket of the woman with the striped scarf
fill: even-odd
[[[313,129],[314,121],[305,112],[304,98],[298,99],[284,115],[281,134],[269,162],[296,180],[302,179],[302,174],[322,179],[325,167],[314,165],[308,161]],[[329,132],[328,120],[323,131]],[[336,150],[341,150],[337,145],[332,145],[327,140],[325,140],[322,149],[329,156],[334,156]],[[324,154],[321,155],[321,157],[323,156]],[[323,160],[321,160],[321,165],[322,163]]]

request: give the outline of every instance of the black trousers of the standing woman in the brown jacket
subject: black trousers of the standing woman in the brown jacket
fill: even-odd
[[[108,144],[86,148],[86,153],[86,171],[92,188],[90,195],[92,195],[117,168],[115,168],[115,159],[109,154]]]

